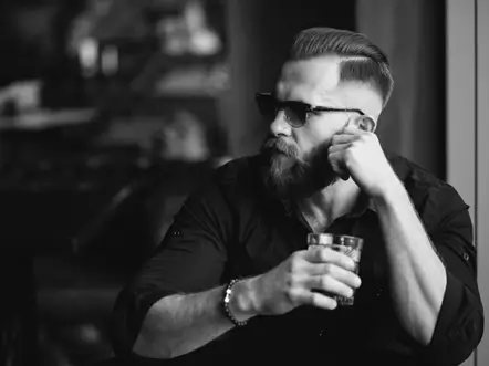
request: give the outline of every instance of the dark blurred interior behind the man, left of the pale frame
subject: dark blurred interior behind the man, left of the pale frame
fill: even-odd
[[[118,291],[198,184],[257,153],[253,93],[318,25],[384,49],[381,140],[445,179],[445,0],[0,1],[1,366],[111,357]]]

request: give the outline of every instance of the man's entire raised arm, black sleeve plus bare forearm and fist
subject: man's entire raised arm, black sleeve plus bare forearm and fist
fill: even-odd
[[[376,203],[403,327],[425,345],[420,351],[427,364],[460,364],[483,332],[467,205],[451,186],[439,182],[426,191],[423,205],[430,208],[423,209],[422,222],[377,136],[354,126],[333,136],[329,159]]]

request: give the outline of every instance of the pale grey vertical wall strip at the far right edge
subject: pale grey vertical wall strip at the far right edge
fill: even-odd
[[[447,177],[475,223],[486,310],[482,341],[464,366],[489,365],[489,0],[447,0]],[[486,117],[486,118],[485,118]]]

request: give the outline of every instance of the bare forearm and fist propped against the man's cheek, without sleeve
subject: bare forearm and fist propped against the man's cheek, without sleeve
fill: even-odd
[[[413,338],[427,345],[444,300],[445,266],[377,136],[351,121],[332,137],[329,160],[340,177],[351,176],[374,200],[386,243],[395,311]]]

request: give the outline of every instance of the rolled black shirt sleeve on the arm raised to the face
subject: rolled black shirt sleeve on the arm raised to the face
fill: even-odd
[[[428,222],[436,221],[428,234],[447,271],[445,297],[424,357],[429,365],[459,365],[483,333],[472,223],[468,206],[449,185],[428,196],[424,217]]]

